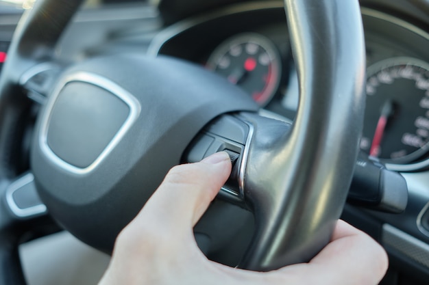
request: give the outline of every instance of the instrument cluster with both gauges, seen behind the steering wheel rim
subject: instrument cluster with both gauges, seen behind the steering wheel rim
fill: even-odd
[[[242,9],[173,25],[154,38],[149,53],[201,64],[293,120],[299,90],[282,7]],[[360,148],[389,169],[421,170],[429,165],[428,33],[376,10],[362,14],[367,108]]]

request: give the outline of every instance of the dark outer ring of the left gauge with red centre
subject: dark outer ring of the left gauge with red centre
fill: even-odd
[[[215,70],[217,68],[217,63],[219,59],[223,57],[232,46],[239,44],[253,43],[262,47],[265,50],[270,59],[271,64],[271,74],[273,74],[273,79],[270,83],[267,83],[265,89],[262,91],[262,103],[258,103],[261,108],[267,106],[275,94],[278,92],[280,86],[280,81],[282,79],[282,57],[280,52],[272,42],[266,36],[262,36],[260,33],[238,33],[230,38],[226,38],[219,44],[210,54],[207,59],[206,67],[210,70]]]

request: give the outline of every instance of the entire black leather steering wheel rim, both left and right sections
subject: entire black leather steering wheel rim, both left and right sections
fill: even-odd
[[[4,111],[0,112],[3,138],[9,137],[12,128],[19,120],[19,118],[11,119],[12,115],[6,111],[6,107],[10,107],[15,100],[12,94],[16,92],[23,72],[34,66],[39,60],[45,60],[46,55],[50,54],[60,38],[62,30],[69,23],[81,2],[38,1],[34,10],[23,17],[23,21],[16,30],[8,53],[8,62],[3,66],[0,79],[0,108],[1,111]],[[256,219],[259,221],[256,221],[257,233],[240,267],[261,271],[278,268],[285,264],[305,262],[328,243],[334,221],[341,214],[351,182],[365,105],[363,96],[365,49],[362,24],[360,15],[357,13],[358,1],[285,0],[285,5],[293,54],[298,68],[301,99],[297,119],[291,133],[283,133],[275,137],[275,141],[288,141],[286,147],[277,148],[275,151],[284,153],[285,160],[282,162],[282,166],[283,169],[289,170],[281,173],[286,178],[277,180],[268,186],[268,189],[275,193],[271,198],[275,197],[275,199],[267,200],[267,194],[262,191],[258,180],[252,179],[258,177],[256,172],[260,169],[248,167],[249,176],[245,181],[246,199],[249,207],[254,209]],[[58,23],[55,28],[50,22],[40,17],[44,13],[55,15],[55,18],[50,18],[51,21]],[[337,25],[337,21],[344,25]],[[47,33],[50,36],[47,38],[32,36],[38,29],[43,28],[52,31],[52,33]],[[40,48],[38,51],[42,52],[35,55],[32,50],[25,49],[32,44],[35,44]],[[350,61],[350,59],[353,60]],[[319,72],[323,68],[326,72]],[[338,80],[332,80],[332,78]],[[340,78],[341,80],[339,80]],[[317,109],[322,109],[321,113],[314,112]],[[243,117],[247,122],[260,124],[253,115],[245,114]],[[352,126],[350,122],[352,122]],[[3,128],[3,126],[7,127]],[[260,141],[266,143],[263,139],[266,130],[264,131],[262,128],[260,130],[256,137],[262,137]],[[339,139],[339,133],[348,135]],[[315,147],[314,141],[319,139],[323,141],[323,144]],[[3,157],[10,147],[8,148],[4,143],[10,144],[11,140],[2,139],[1,141],[1,163],[3,169],[7,169],[11,163],[5,161]],[[332,150],[332,144],[334,144],[334,150]],[[248,161],[249,165],[265,163],[266,156],[258,154],[258,149],[265,146],[252,146],[253,154],[252,159]],[[322,152],[326,149],[330,151]],[[296,167],[298,164],[304,165],[304,169],[307,169],[308,172],[302,171],[303,167]],[[284,167],[285,165],[287,167]],[[339,169],[339,165],[343,167]],[[320,171],[323,167],[331,170],[329,172]],[[290,171],[290,169],[295,171]],[[332,177],[335,176],[332,169],[340,172],[341,177]],[[262,176],[272,175],[269,174],[272,170],[273,167],[267,167]],[[13,174],[12,177],[8,177],[8,175],[4,175],[5,173],[7,172],[2,173],[2,179],[13,177]],[[308,174],[312,178],[310,181],[306,180]],[[329,179],[323,179],[323,177]],[[323,185],[321,187],[323,191],[317,190],[320,185]],[[302,191],[300,194],[299,191],[289,191],[295,188],[306,191]],[[284,189],[288,191],[284,191]],[[321,196],[325,198],[323,200],[324,209],[322,209],[324,211],[317,208],[317,204],[320,203],[315,203],[315,200]],[[281,203],[279,204],[278,201]],[[307,209],[312,208],[312,211],[308,211],[308,215],[302,215],[296,219],[302,213],[299,205],[305,205],[304,208]],[[328,210],[326,210],[327,208]],[[269,215],[265,215],[266,213]],[[267,223],[272,217],[291,218],[275,219],[275,222]],[[317,223],[314,219],[318,219]],[[303,224],[306,226],[299,226]],[[314,226],[315,224],[316,226]],[[288,230],[290,232],[291,228],[298,229],[297,234],[295,236],[289,234],[289,239],[284,239],[284,233]],[[3,229],[1,235],[5,236]],[[311,238],[306,239],[308,236]],[[303,238],[306,241],[304,246],[302,246]],[[16,248],[12,252],[14,250]],[[285,255],[284,251],[289,254]],[[0,272],[5,274],[0,274],[0,276],[12,284],[14,282],[23,283],[22,275],[7,273],[10,272],[10,268],[16,269],[12,270],[13,272],[21,272],[16,258],[10,258],[13,256],[10,254],[10,249],[2,252],[8,254],[2,254],[6,257],[1,260],[3,265],[0,267]]]

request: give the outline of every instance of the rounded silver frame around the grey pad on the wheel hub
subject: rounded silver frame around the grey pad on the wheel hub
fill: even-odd
[[[51,120],[53,106],[55,105],[62,88],[64,88],[67,83],[73,81],[90,83],[101,87],[123,100],[123,102],[126,103],[128,107],[130,107],[130,114],[128,115],[121,128],[119,128],[118,133],[113,137],[112,141],[110,141],[108,146],[106,146],[106,148],[101,152],[99,157],[97,157],[97,159],[95,159],[95,161],[91,163],[91,165],[85,168],[76,167],[75,165],[71,165],[66,161],[60,159],[60,157],[58,157],[53,152],[53,150],[51,150],[47,141],[48,126]],[[140,111],[141,106],[138,100],[134,96],[132,96],[132,94],[124,90],[121,86],[117,85],[110,79],[107,79],[106,77],[101,77],[97,74],[93,74],[90,72],[77,72],[75,74],[71,74],[60,80],[56,89],[53,91],[52,96],[47,102],[47,107],[43,114],[42,122],[40,124],[40,135],[38,138],[40,148],[52,163],[55,163],[56,165],[62,167],[62,169],[65,169],[68,172],[73,172],[74,174],[88,174],[89,172],[92,172],[101,163],[101,161],[103,161],[103,159],[106,159],[108,154],[110,154],[110,152],[112,152],[112,150],[117,146],[117,144],[119,144],[119,141],[121,141],[127,131],[130,130],[134,122],[136,122],[138,116],[140,115]]]

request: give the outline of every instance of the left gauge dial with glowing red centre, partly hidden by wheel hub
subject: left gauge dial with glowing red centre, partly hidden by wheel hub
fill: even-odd
[[[256,33],[225,40],[210,55],[207,67],[243,88],[262,107],[280,83],[280,55],[269,39]]]

